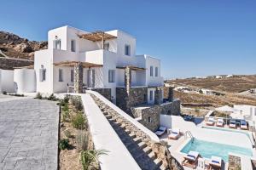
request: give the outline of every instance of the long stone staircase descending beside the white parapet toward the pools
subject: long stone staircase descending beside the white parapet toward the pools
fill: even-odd
[[[137,161],[139,167],[143,170],[166,170],[168,168],[163,163],[163,159],[154,152],[151,142],[141,132],[131,126],[131,123],[120,117],[111,107],[104,104],[101,99],[96,98],[93,94],[91,97],[95,100],[96,105],[108,119],[114,131],[119,135],[119,139],[125,144],[125,147],[131,153],[131,156]]]

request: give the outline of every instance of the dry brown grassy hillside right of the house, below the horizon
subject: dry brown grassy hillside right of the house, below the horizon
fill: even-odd
[[[221,105],[256,105],[256,99],[238,94],[250,88],[256,88],[256,75],[239,76],[231,78],[206,78],[206,79],[177,79],[167,81],[176,86],[189,86],[193,88],[207,88],[222,92],[224,96],[206,94],[187,94],[174,92],[175,98],[181,99],[184,104],[210,104],[213,107]]]

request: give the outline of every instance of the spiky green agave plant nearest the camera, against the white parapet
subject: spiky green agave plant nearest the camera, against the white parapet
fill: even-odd
[[[81,162],[84,170],[97,169],[100,163],[99,157],[107,155],[107,150],[83,150],[81,152]]]

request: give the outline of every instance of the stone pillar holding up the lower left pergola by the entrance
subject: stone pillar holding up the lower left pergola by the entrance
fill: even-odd
[[[73,69],[74,81],[73,90],[76,94],[83,93],[83,65],[79,62],[74,65]]]

